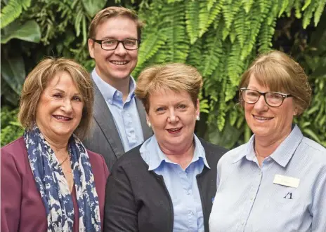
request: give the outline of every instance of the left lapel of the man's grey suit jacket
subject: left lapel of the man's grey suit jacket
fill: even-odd
[[[122,145],[119,132],[117,131],[117,127],[115,126],[115,121],[111,114],[110,109],[107,107],[107,103],[104,100],[102,93],[96,86],[96,83],[93,83],[94,86],[94,109],[93,109],[93,117],[96,122],[100,126],[103,131],[107,142],[110,143],[113,151],[115,152],[115,156],[119,158],[124,154],[124,146]]]

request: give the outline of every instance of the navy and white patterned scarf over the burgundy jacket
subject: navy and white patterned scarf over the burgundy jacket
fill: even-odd
[[[74,205],[67,180],[54,151],[37,125],[24,133],[30,167],[41,193],[48,220],[48,232],[72,231]],[[72,135],[68,142],[79,209],[79,231],[100,231],[100,207],[89,155]]]

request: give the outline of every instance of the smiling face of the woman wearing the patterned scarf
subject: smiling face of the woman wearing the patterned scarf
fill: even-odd
[[[68,140],[80,123],[84,103],[81,94],[65,71],[54,76],[37,104],[36,123],[44,137]]]

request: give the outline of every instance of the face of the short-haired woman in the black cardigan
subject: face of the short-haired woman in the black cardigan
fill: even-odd
[[[185,90],[176,93],[165,90],[150,95],[148,121],[152,124],[162,151],[183,151],[193,143],[196,117],[200,104],[193,104]]]

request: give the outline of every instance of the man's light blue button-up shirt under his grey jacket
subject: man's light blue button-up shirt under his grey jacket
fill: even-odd
[[[95,69],[92,71],[92,77],[111,111],[124,151],[129,151],[144,142],[134,93],[136,82],[133,77],[130,76],[129,95],[125,102],[122,100],[122,93],[103,81]]]

